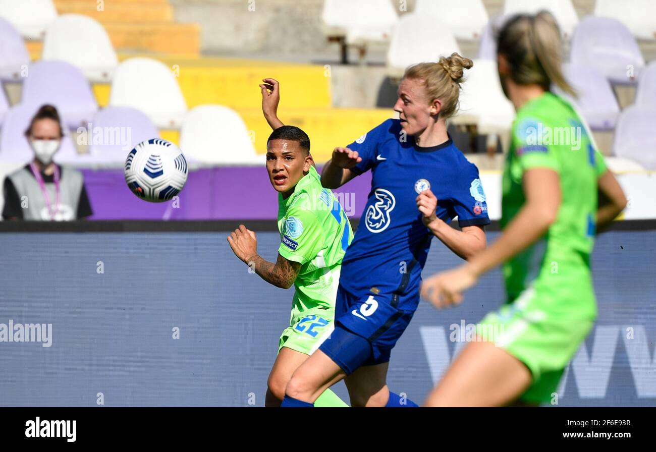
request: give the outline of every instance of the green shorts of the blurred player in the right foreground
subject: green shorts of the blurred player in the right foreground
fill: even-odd
[[[580,296],[569,303],[554,302],[553,289],[531,287],[480,321],[479,328],[488,333],[483,339],[495,342],[531,371],[533,383],[521,400],[549,402],[558,391],[567,363],[594,325],[594,295]]]

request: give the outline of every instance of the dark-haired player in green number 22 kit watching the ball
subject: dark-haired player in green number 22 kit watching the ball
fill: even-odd
[[[264,94],[264,93],[263,93]],[[280,247],[276,264],[256,253],[255,233],[239,226],[228,237],[234,253],[265,281],[295,286],[291,319],[279,341],[268,379],[266,406],[277,406],[293,372],[333,331],[335,295],[344,251],[353,232],[331,190],[321,186],[310,139],[298,127],[280,125],[267,143],[266,168],[278,194]],[[331,390],[318,406],[347,407]]]

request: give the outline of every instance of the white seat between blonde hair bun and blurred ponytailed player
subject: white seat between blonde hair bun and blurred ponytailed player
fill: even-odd
[[[474,66],[464,72],[464,77],[459,113],[453,122],[476,124],[479,133],[510,130],[515,110],[503,94],[497,62],[474,60]]]

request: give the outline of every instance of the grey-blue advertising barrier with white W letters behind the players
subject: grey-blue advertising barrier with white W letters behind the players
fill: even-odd
[[[274,260],[275,222],[244,222]],[[0,340],[0,406],[262,406],[293,289],[237,260],[226,236],[238,223],[0,224],[0,338],[3,325],[12,339],[24,329]],[[554,405],[656,405],[655,233],[656,222],[625,221],[598,237],[598,320]],[[424,276],[460,262],[434,241]],[[390,388],[421,402],[469,325],[503,300],[497,269],[461,306],[421,302],[392,352]]]

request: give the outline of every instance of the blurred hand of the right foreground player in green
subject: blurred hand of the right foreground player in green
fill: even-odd
[[[464,264],[424,279],[421,283],[421,296],[438,309],[460,304],[462,292],[476,284],[476,273]]]

